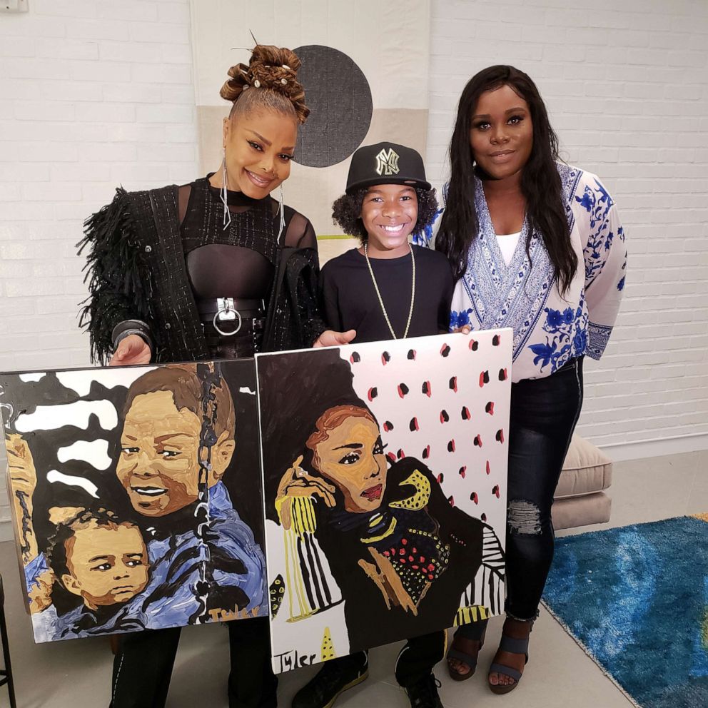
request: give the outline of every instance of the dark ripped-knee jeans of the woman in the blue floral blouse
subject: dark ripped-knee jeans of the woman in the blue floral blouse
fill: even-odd
[[[553,494],[581,407],[582,357],[511,387],[505,609],[514,619],[538,614],[553,560]],[[485,624],[457,631],[478,639]]]

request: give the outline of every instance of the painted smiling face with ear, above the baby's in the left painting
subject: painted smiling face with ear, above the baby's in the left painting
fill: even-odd
[[[166,516],[199,496],[201,420],[188,408],[177,410],[170,391],[138,395],[126,414],[118,480],[133,509]],[[224,432],[211,451],[208,484],[221,478],[233,455],[233,438]]]

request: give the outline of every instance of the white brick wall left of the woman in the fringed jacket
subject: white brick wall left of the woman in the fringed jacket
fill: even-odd
[[[82,221],[198,165],[188,0],[29,7],[0,14],[0,370],[89,363]]]

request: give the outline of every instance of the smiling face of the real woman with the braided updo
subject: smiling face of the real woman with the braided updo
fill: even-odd
[[[228,188],[263,199],[290,176],[290,160],[298,139],[295,118],[278,111],[253,111],[226,118]]]

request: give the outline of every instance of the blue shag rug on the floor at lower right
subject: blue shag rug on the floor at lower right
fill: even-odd
[[[708,707],[708,515],[557,539],[544,604],[635,705]]]

